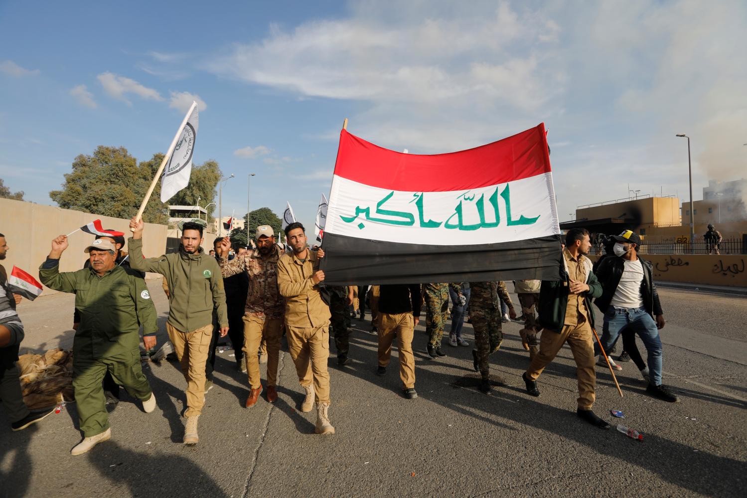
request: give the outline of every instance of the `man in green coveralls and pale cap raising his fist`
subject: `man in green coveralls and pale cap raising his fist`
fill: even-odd
[[[140,368],[138,331],[143,344],[155,346],[156,311],[145,280],[114,261],[114,245],[97,239],[86,248],[90,268],[59,272],[67,236],[52,241],[52,251],[39,268],[41,282],[50,289],[75,294],[81,323],[72,343],[72,387],[84,440],[72,449],[81,455],[111,437],[102,380],[110,372],[117,384],[143,402],[143,411],[155,409],[155,396]]]

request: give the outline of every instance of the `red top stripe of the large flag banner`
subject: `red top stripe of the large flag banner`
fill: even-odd
[[[335,175],[395,191],[451,191],[498,185],[551,171],[545,123],[492,144],[421,156],[340,132]]]

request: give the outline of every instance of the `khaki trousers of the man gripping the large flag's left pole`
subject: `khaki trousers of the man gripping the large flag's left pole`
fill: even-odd
[[[329,323],[314,328],[288,325],[287,339],[298,381],[304,387],[313,382],[316,402],[329,403]]]

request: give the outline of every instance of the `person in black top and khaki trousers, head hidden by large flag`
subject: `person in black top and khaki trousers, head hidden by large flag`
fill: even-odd
[[[412,335],[420,322],[423,306],[421,287],[418,284],[385,285],[379,289],[379,313],[376,327],[379,329],[379,369],[376,375],[383,376],[391,357],[391,343],[397,333],[400,349],[400,379],[403,396],[415,399],[415,357],[412,354]]]

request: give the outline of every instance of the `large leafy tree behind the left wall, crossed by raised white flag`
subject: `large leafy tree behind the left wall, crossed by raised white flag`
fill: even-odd
[[[66,173],[62,189],[49,192],[49,197],[64,209],[114,218],[131,218],[137,213],[137,209],[140,209],[140,203],[163,159],[164,155],[158,153],[149,161],[140,162],[138,165],[137,159],[131,156],[125,147],[100,145],[92,156],[81,154],[75,158],[72,162],[72,173]],[[217,178],[220,178],[217,162],[208,161],[202,166],[194,166],[189,185],[179,194],[186,192],[185,195],[188,196],[194,192],[205,191],[206,197],[208,194],[211,194],[210,198],[214,197],[217,180],[212,187],[209,186],[209,182],[211,177],[215,176],[216,170]],[[193,180],[196,180],[196,185],[193,185]],[[174,196],[170,203],[178,204],[179,194]],[[182,197],[182,200],[184,199],[185,197]],[[196,196],[194,200],[197,200]],[[167,205],[161,203],[161,182],[156,182],[143,212],[143,221],[164,224],[168,220],[167,209]]]

